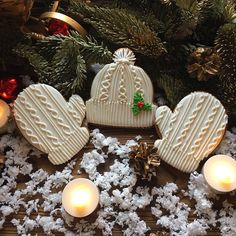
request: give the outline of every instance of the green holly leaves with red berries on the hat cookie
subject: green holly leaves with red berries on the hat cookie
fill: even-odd
[[[151,111],[152,104],[149,102],[145,102],[143,95],[141,93],[134,94],[134,100],[132,105],[132,110],[135,116],[139,115],[142,110]]]

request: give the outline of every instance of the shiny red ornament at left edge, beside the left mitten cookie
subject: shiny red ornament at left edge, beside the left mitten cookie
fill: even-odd
[[[0,79],[0,97],[3,99],[15,99],[18,81],[15,76]]]

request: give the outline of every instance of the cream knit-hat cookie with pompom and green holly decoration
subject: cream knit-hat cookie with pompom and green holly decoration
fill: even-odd
[[[150,78],[134,66],[135,56],[128,48],[114,53],[114,63],[95,77],[91,99],[86,102],[89,123],[117,127],[150,127],[156,106],[152,104]]]

